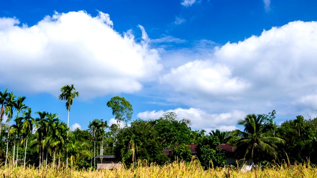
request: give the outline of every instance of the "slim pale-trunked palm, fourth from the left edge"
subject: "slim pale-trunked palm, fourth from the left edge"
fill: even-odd
[[[25,169],[25,159],[26,159],[26,149],[28,147],[28,137],[29,137],[29,134],[33,130],[34,119],[32,118],[31,114],[32,114],[31,108],[28,108],[28,111],[23,113],[23,116],[24,116],[24,118],[23,118],[24,119],[24,121],[23,121],[23,130],[24,130],[24,137],[25,137],[25,140],[26,140],[25,152],[24,152],[23,170]]]

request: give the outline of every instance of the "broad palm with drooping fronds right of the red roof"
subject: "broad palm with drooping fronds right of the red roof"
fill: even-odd
[[[266,123],[267,118],[264,115],[247,115],[245,119],[238,121],[238,125],[244,126],[244,131],[236,130],[235,133],[242,138],[236,143],[237,151],[242,151],[245,158],[249,157],[255,163],[260,161],[264,154],[277,158],[276,143],[283,144],[284,140],[277,137],[267,136],[266,133],[272,127]]]

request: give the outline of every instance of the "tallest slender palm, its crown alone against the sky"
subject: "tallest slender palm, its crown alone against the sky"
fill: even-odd
[[[66,100],[66,109],[67,109],[67,128],[69,128],[69,111],[70,106],[73,104],[73,99],[79,96],[79,92],[74,88],[74,84],[71,86],[65,85],[60,89],[61,93],[59,95],[60,100]],[[68,131],[67,131],[68,139]],[[66,152],[66,168],[68,167],[68,151]]]

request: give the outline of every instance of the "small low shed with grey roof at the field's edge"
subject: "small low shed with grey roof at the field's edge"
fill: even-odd
[[[114,155],[98,155],[95,159],[97,160],[97,169],[121,168],[121,162]]]

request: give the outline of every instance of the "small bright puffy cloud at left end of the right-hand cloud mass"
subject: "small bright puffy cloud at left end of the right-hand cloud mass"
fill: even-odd
[[[227,66],[199,60],[171,69],[161,81],[176,91],[191,92],[195,95],[240,93],[250,87],[243,79],[232,77]]]

